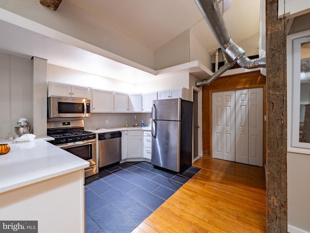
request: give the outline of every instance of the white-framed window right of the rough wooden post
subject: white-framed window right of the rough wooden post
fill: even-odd
[[[291,146],[310,149],[310,35],[294,38],[292,43]]]

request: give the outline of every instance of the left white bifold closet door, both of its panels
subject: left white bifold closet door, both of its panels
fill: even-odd
[[[234,91],[212,93],[212,157],[235,160]]]

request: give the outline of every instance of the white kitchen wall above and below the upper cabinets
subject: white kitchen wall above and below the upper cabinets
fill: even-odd
[[[189,88],[189,74],[186,72],[165,75],[163,78],[148,83],[132,84],[47,64],[47,82],[49,81],[124,93],[148,93],[165,89]],[[192,78],[191,85],[194,85],[194,82],[196,82],[196,79]],[[185,94],[187,97],[188,93]],[[90,117],[83,118],[83,120],[85,129],[114,128],[123,127],[125,121],[128,122],[129,126],[133,126],[135,115],[137,115],[139,123],[143,120],[145,126],[150,124],[151,113],[92,113]],[[106,124],[106,119],[109,120],[109,124]]]

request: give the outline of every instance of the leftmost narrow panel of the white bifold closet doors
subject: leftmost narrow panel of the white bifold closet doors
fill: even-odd
[[[223,159],[223,93],[212,93],[212,157]]]

